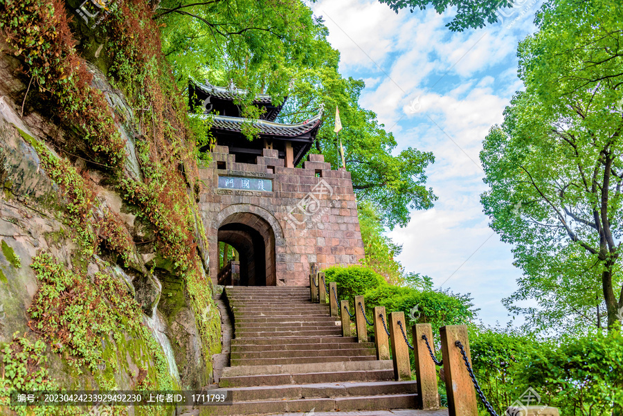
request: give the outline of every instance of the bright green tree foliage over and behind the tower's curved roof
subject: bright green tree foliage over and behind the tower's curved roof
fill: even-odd
[[[392,154],[395,138],[359,105],[363,82],[338,72],[339,53],[327,42],[328,30],[303,2],[163,0],[156,15],[164,25],[163,53],[180,87],[189,76],[214,84],[233,80],[249,90],[238,103],[248,117],[259,116],[251,105],[255,93],[268,93],[275,102],[287,96],[278,119],[283,123],[300,123],[324,106],[314,152],[334,168],[341,165],[333,132],[338,106],[358,199],[370,201],[390,228],[406,225],[410,209],[433,206],[436,197],[425,186],[433,155],[411,147]]]

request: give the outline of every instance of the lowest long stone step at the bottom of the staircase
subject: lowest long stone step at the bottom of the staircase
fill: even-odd
[[[206,406],[201,415],[249,415],[262,413],[387,410],[415,407],[417,395],[346,396],[335,398],[240,401],[231,406]]]

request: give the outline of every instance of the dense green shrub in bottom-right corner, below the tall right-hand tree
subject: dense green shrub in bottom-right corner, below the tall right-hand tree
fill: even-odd
[[[476,378],[498,414],[528,388],[541,397],[538,405],[557,407],[561,416],[620,414],[613,406],[623,403],[621,334],[544,340],[515,329],[478,328],[470,329],[469,344]]]

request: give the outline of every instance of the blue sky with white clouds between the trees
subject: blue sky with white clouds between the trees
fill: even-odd
[[[431,276],[436,287],[471,293],[487,325],[511,319],[501,299],[516,290],[521,271],[512,265],[512,247],[500,242],[482,212],[486,186],[478,153],[522,89],[516,48],[534,33],[541,2],[515,1],[497,24],[462,33],[444,26],[447,12],[396,14],[377,0],[311,5],[341,53],[341,73],[365,81],[361,105],[395,135],[397,151],[412,146],[435,154],[428,186],[439,200],[389,233],[403,245],[398,260],[408,271]]]

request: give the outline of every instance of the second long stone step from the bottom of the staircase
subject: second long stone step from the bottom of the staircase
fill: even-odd
[[[210,394],[228,389],[217,388]],[[231,389],[233,401],[296,400],[344,396],[401,395],[417,392],[415,381],[359,381],[356,383],[289,384],[283,386],[251,386]]]

